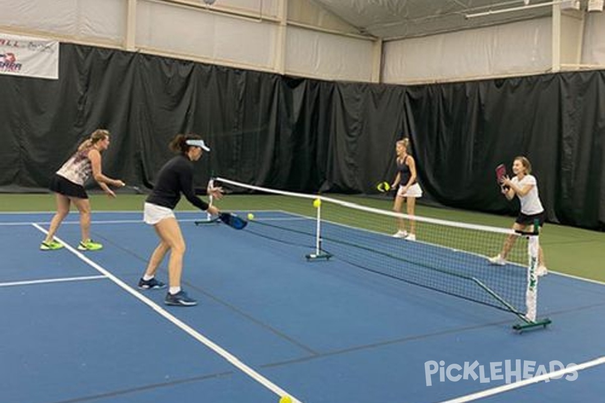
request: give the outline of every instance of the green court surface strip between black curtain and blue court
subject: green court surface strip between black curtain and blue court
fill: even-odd
[[[342,195],[330,195],[330,197],[384,210],[390,210],[392,204],[389,199],[382,198]],[[242,198],[249,198],[246,204],[250,210],[263,208],[261,205],[263,203],[262,198],[242,195],[227,195],[217,202],[217,206],[223,210],[229,210],[234,205],[241,205]],[[115,199],[101,194],[91,194],[93,211],[142,211],[144,200],[145,195],[128,193],[119,194]],[[52,212],[54,208],[54,196],[50,193],[0,194],[0,211],[2,212]],[[178,205],[178,210],[193,210],[193,208],[183,199]],[[474,211],[428,207],[420,204],[417,205],[416,214],[418,216],[449,221],[503,228],[511,227],[514,221],[514,218],[509,216],[495,216],[493,214],[477,213]],[[603,247],[605,245],[605,233],[547,223],[543,228],[540,243],[545,251],[546,263],[550,271],[605,282],[605,271],[603,270],[603,262],[605,262],[605,248]]]

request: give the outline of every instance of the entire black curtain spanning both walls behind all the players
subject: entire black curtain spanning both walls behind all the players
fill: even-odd
[[[551,222],[605,229],[605,72],[397,86],[325,82],[61,44],[59,80],[0,76],[0,190],[40,191],[80,141],[150,187],[178,132],[211,175],[301,192],[375,193],[410,137],[425,200],[508,213],[494,167],[526,155]],[[510,168],[509,168],[510,171]]]

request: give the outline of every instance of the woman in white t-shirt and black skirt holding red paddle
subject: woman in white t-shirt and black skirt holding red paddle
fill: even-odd
[[[519,198],[521,203],[521,211],[512,225],[515,231],[526,231],[529,227],[529,232],[534,231],[535,222],[539,227],[542,227],[545,219],[544,207],[540,202],[538,195],[538,185],[535,176],[531,175],[531,163],[525,156],[517,156],[512,163],[512,172],[515,174],[512,178],[505,176],[502,178],[500,186],[502,194],[506,199],[512,200],[515,196]],[[502,251],[497,256],[491,257],[489,261],[495,265],[504,265],[506,256],[514,245],[516,236],[509,235],[506,237]],[[544,276],[548,273],[544,260],[542,247],[538,251],[538,276]]]

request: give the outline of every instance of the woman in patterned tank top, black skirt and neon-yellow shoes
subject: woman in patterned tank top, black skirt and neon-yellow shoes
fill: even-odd
[[[110,132],[98,129],[78,147],[76,153],[63,164],[55,173],[50,182],[50,190],[55,193],[57,212],[54,214],[48,228],[48,234],[40,245],[41,250],[57,250],[64,245],[54,239],[59,225],[70,212],[71,203],[80,212],[80,230],[82,240],[79,250],[91,251],[103,248],[103,245],[90,239],[90,202],[84,189],[84,184],[93,176],[101,189],[111,197],[116,193],[108,185],[122,187],[124,182],[103,175],[101,170],[101,153],[110,145]]]

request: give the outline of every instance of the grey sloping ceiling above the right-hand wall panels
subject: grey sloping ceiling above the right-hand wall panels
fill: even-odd
[[[313,0],[362,34],[382,39],[458,31],[550,16],[552,0]],[[586,2],[587,0],[582,0]],[[525,5],[528,2],[528,5]],[[563,2],[564,3],[564,2]],[[539,4],[545,4],[535,7]],[[473,13],[522,8],[476,18]]]

